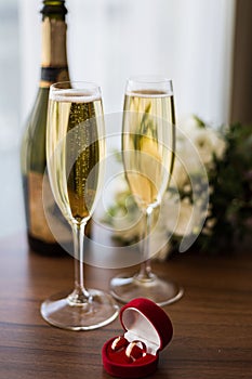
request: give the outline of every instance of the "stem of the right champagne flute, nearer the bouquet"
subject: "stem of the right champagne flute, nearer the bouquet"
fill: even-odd
[[[152,280],[155,275],[151,273],[150,265],[150,232],[152,224],[152,207],[148,207],[144,213],[144,233],[142,237],[142,253],[144,262],[141,264],[140,273],[137,274],[138,280],[149,282]]]

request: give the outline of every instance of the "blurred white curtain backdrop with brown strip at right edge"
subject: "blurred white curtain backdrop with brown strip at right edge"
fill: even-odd
[[[19,141],[40,77],[40,0],[0,0],[0,237],[25,228]],[[122,109],[125,79],[173,80],[177,117],[252,120],[251,0],[68,0],[72,79]]]

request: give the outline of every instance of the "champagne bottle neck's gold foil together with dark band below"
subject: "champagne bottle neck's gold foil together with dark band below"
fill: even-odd
[[[64,19],[43,17],[40,79],[42,88],[49,88],[57,81],[69,80],[66,34],[67,25]]]

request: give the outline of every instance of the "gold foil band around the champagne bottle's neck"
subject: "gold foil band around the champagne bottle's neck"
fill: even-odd
[[[42,23],[42,67],[64,67],[67,25],[62,19],[45,17]]]

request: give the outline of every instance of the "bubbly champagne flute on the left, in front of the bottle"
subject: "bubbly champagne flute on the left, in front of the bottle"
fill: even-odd
[[[74,290],[54,295],[41,305],[50,324],[71,330],[102,327],[118,315],[112,297],[87,289],[83,238],[92,215],[105,158],[105,127],[101,89],[91,82],[59,82],[49,94],[47,126],[48,172],[53,196],[74,237]]]

